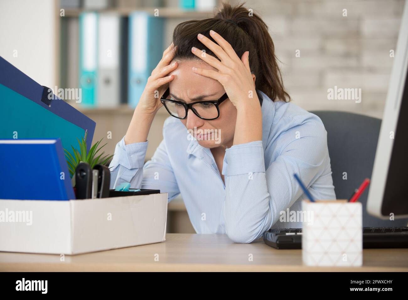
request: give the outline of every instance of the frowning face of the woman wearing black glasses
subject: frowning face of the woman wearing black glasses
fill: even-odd
[[[174,99],[191,103],[217,100],[224,95],[225,90],[220,82],[193,72],[193,67],[216,70],[215,68],[200,60],[184,60],[178,64],[177,69],[169,74],[174,75],[174,79],[169,83]],[[200,98],[197,99],[198,97]],[[191,109],[188,109],[187,118],[180,120],[202,147],[229,148],[233,144],[237,110],[229,99],[224,100],[219,109],[220,117],[215,120],[203,120]],[[186,138],[191,138],[188,135],[186,132]]]

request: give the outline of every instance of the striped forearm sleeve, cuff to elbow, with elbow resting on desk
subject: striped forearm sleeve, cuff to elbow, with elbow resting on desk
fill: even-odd
[[[224,218],[226,233],[234,242],[249,243],[271,224],[262,141],[226,149]]]

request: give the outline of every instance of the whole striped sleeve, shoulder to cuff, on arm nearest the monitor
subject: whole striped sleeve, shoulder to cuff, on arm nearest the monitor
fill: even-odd
[[[231,240],[252,242],[279,220],[279,212],[303,194],[294,173],[310,187],[324,171],[326,130],[316,123],[305,122],[280,133],[280,155],[267,168],[262,141],[226,149],[224,218]]]

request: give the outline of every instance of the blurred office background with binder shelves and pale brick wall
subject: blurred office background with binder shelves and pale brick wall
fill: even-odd
[[[245,5],[268,24],[285,87],[295,104],[306,110],[351,111],[381,118],[404,3],[248,0]],[[108,143],[105,151],[113,153],[137,102],[131,95],[140,93],[137,84],[143,83],[134,73],[140,64],[151,72],[152,63],[143,64],[149,59],[133,61],[132,53],[145,51],[149,58],[157,55],[158,48],[162,53],[178,23],[211,18],[219,5],[218,0],[2,0],[0,56],[44,86],[82,88],[83,103],[67,101],[95,120],[93,141],[104,138]],[[141,25],[142,15],[161,21],[143,19],[147,25]],[[132,28],[144,29],[135,33]],[[155,40],[145,41],[150,46],[140,50],[143,39],[152,36]],[[93,55],[98,46],[90,50],[92,42],[102,40],[107,53]],[[159,47],[152,48],[151,43]],[[328,100],[327,90],[335,86],[361,89],[361,102]],[[161,129],[167,117],[161,109],[155,118],[146,160],[162,140]],[[168,231],[194,232],[181,197],[169,204]]]

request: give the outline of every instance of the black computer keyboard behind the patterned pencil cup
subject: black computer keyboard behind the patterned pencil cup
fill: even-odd
[[[302,228],[269,229],[263,238],[276,249],[302,249]],[[408,227],[364,227],[363,248],[408,248]]]

